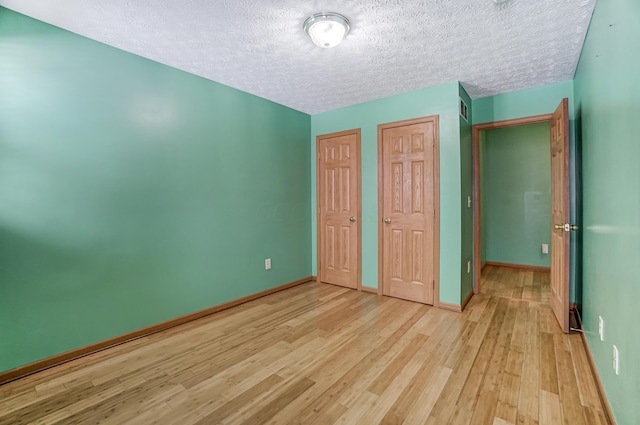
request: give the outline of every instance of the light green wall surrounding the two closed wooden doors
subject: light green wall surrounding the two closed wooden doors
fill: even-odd
[[[316,136],[361,128],[362,284],[378,286],[378,124],[440,116],[440,301],[460,303],[460,123],[458,82],[362,103],[311,117]],[[312,211],[316,210],[315,155],[309,159]],[[316,215],[311,223],[313,273],[316,271]],[[466,268],[465,268],[466,271]]]

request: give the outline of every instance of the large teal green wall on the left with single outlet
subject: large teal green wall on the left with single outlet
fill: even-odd
[[[0,58],[0,371],[311,275],[308,115],[4,8]]]

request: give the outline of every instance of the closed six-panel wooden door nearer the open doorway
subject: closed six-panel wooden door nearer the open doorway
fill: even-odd
[[[438,117],[378,126],[382,293],[434,303],[438,249]]]

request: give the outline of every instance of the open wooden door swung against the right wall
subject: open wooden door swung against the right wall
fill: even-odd
[[[569,332],[569,101],[551,118],[551,308]]]

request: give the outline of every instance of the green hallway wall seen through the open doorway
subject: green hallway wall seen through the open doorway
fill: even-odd
[[[486,131],[482,143],[485,261],[549,267],[549,124]]]

